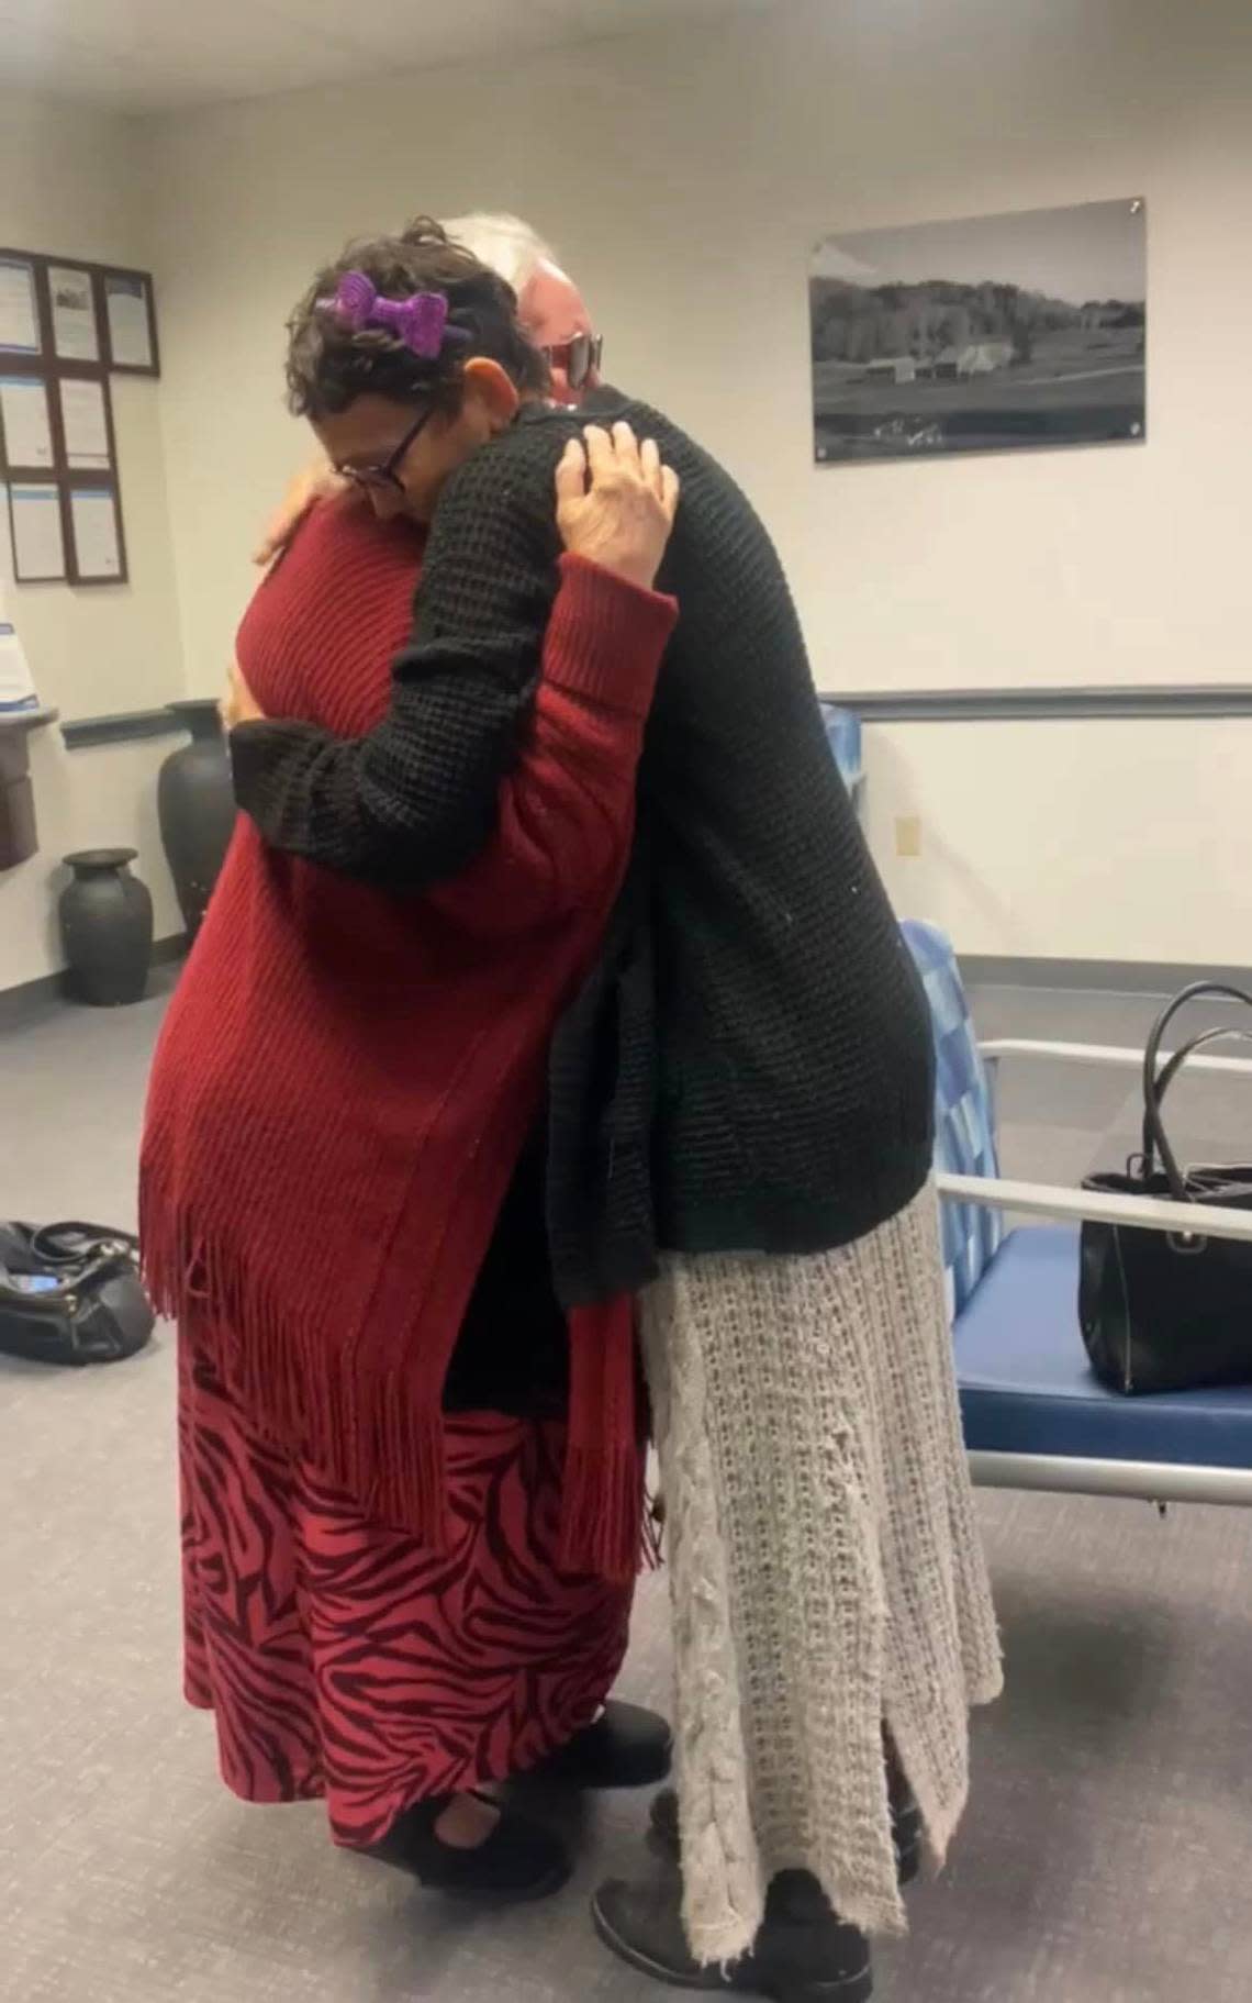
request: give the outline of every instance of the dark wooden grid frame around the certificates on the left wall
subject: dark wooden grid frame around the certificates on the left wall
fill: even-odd
[[[110,375],[160,375],[160,351],[156,347],[156,304],[152,294],[152,276],[146,270],[130,270],[126,264],[94,264],[90,258],[80,256],[58,256],[48,250],[10,250],[0,246],[0,258],[8,258],[18,264],[28,264],[34,272],[34,302],[40,330],[40,353],[26,355],[14,351],[0,351],[0,371],[14,377],[30,377],[44,385],[48,397],[48,425],[52,431],[52,467],[22,467],[8,459],[4,447],[4,427],[0,425],[0,479],[10,487],[14,483],[56,487],[60,505],[60,533],[66,553],[64,577],[40,579],[42,583],[54,585],[124,585],[130,581],[130,567],[126,561],[126,523],[122,517],[122,487],[118,479],[118,445],[112,423],[112,395],[108,379]],[[90,278],[92,304],[96,314],[96,351],[98,361],[88,363],[80,357],[62,359],[56,353],[56,326],[52,316],[52,284],[48,272],[52,268],[80,270]],[[122,365],[114,369],[112,347],[108,339],[108,312],[104,300],[104,280],[116,278],[140,278],[144,284],[144,294],[148,300],[148,330],[152,339],[152,367],[140,369],[136,365]],[[70,467],[66,455],[66,433],[64,415],[60,403],[60,385],[64,381],[86,381],[98,383],[104,395],[104,429],[108,433],[108,469],[100,467]],[[112,495],[114,515],[118,525],[118,571],[112,577],[84,577],[78,567],[78,551],[74,545],[74,511],[70,495],[80,493],[108,493]],[[12,539],[12,501],[8,533]],[[16,551],[14,551],[16,565]],[[16,569],[14,569],[16,575]],[[36,579],[30,579],[36,583]]]

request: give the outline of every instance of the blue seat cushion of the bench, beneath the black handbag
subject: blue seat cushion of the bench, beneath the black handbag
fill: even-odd
[[[1122,1398],[1078,1328],[1078,1232],[1012,1232],[956,1322],[966,1444],[1000,1454],[1252,1466],[1252,1388]]]

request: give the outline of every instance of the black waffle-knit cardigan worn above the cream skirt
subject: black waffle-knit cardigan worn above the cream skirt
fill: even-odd
[[[531,407],[447,483],[387,719],[234,731],[278,849],[421,891],[461,871],[517,759],[557,589],[553,471],[589,415],[655,437],[683,495],[679,601],[627,881],[549,1064],[549,1242],[567,1306],[657,1254],[817,1252],[901,1210],[931,1156],[925,1002],[829,755],[773,545],[645,405]]]

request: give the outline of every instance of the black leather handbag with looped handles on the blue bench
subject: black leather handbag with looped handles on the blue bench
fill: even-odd
[[[1184,1172],[1164,1128],[1162,1102],[1186,1060],[1204,1044],[1252,1034],[1206,1030],[1162,1066],[1168,1026],[1202,997],[1240,1002],[1252,1016],[1252,995],[1222,981],[1196,981],[1174,995],[1144,1054],[1144,1152],[1124,1176],[1088,1176],[1084,1190],[1252,1212],[1252,1166]],[[1092,1370],[1110,1390],[1138,1396],[1252,1384],[1252,1240],[1084,1224],[1078,1312]]]

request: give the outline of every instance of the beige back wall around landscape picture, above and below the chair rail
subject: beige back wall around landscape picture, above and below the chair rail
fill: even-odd
[[[821,687],[1248,677],[1246,0],[779,6],[717,44],[649,34],[178,114],[152,128],[152,186],[194,689],[216,685],[248,533],[304,451],[280,403],[294,294],[349,232],[475,204],[555,238],[613,381],[747,485]],[[1150,204],[1148,447],[811,465],[815,236],[1130,194]],[[897,901],[970,951],[1252,957],[1242,877],[1214,863],[1250,785],[1248,723],[869,739]],[[891,855],[897,813],[923,817],[919,863]]]

